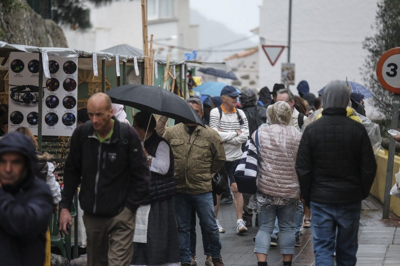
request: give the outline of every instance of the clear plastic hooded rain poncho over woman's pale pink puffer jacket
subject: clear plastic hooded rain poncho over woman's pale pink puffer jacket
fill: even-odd
[[[270,125],[258,129],[258,189],[248,204],[257,212],[270,205],[297,204],[300,197],[294,165],[301,133],[288,126],[292,120],[289,104],[280,101],[268,106],[267,119]]]

